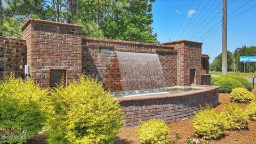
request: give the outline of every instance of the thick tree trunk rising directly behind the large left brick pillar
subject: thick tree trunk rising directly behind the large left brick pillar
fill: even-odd
[[[68,18],[68,23],[74,23],[77,15],[77,0],[68,0],[67,11],[70,13],[71,18]]]

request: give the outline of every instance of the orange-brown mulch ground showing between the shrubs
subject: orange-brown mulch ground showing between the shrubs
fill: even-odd
[[[254,93],[255,94],[255,93]],[[219,106],[216,107],[218,111],[221,111],[227,103],[230,102],[229,94],[219,94]],[[239,103],[240,107],[245,108],[246,105]],[[188,119],[186,121],[175,122],[168,124],[170,129],[171,140],[175,139],[175,134],[179,134],[182,139],[177,143],[185,143],[188,136],[194,135],[193,129],[193,119]],[[136,130],[138,127],[126,128],[124,127],[118,134],[118,139],[115,144],[137,144],[140,143],[138,139],[138,134]],[[250,121],[248,130],[241,131],[225,131],[225,136],[220,140],[208,141],[211,144],[219,143],[243,143],[243,144],[253,144],[256,143],[256,122]],[[27,143],[37,143],[45,144],[45,137],[42,133],[37,134],[34,138],[30,139]]]

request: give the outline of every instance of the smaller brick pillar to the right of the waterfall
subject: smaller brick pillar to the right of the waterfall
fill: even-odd
[[[177,55],[177,85],[189,85],[190,69],[195,69],[196,84],[201,84],[202,44],[186,40],[164,43],[174,46]]]

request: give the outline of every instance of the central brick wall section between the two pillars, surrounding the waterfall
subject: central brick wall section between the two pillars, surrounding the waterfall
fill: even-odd
[[[98,75],[106,89],[123,91],[123,80],[115,51],[156,53],[161,61],[165,86],[177,85],[177,51],[170,45],[83,37],[82,69]]]

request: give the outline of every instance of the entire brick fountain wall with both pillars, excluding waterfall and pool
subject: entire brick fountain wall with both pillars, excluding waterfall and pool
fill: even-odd
[[[2,71],[4,68],[2,73],[9,73],[27,64],[31,69],[30,76],[42,88],[58,82],[61,74],[68,82],[77,79],[84,71],[87,75],[98,75],[111,92],[123,91],[115,51],[158,54],[166,86],[210,84],[209,57],[202,54],[202,43],[181,40],[151,44],[82,37],[82,26],[37,19],[29,19],[22,30],[23,40],[12,39],[9,42],[5,38],[0,45],[8,51],[18,47],[20,50],[11,54],[24,59],[23,63],[6,67],[6,63],[11,65],[14,61],[5,61],[5,58],[13,56],[3,55],[5,58],[2,58],[4,62],[0,63],[0,68]],[[21,55],[22,51],[27,53]],[[23,77],[23,69],[18,69],[17,75]]]

